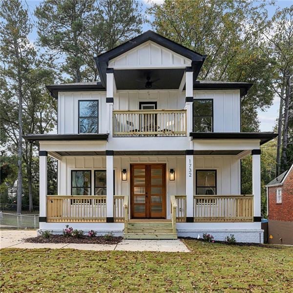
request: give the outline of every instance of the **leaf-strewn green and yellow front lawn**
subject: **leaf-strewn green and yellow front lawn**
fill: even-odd
[[[293,248],[185,240],[190,253],[1,250],[0,292],[293,292]]]

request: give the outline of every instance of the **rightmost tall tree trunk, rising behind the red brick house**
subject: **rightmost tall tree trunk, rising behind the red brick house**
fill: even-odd
[[[287,143],[288,143],[288,122],[289,122],[289,102],[290,102],[290,86],[291,76],[289,75],[286,80],[286,95],[285,95],[285,107],[284,107],[284,127],[282,137],[282,157],[281,157],[281,171],[287,169]]]

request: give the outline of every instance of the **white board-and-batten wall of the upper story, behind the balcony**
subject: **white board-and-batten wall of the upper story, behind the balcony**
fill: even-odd
[[[193,97],[195,99],[213,99],[214,132],[240,132],[239,90],[193,91]],[[106,133],[105,98],[105,91],[60,92],[58,133],[78,133],[79,100],[99,101],[99,132]],[[185,92],[178,90],[121,90],[114,94],[114,110],[137,110],[139,102],[157,102],[157,109],[184,109]]]

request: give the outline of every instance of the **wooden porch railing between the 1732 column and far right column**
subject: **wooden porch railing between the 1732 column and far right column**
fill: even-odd
[[[194,195],[194,222],[253,222],[253,195]]]

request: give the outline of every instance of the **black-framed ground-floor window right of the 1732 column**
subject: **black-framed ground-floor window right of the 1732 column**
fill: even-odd
[[[196,170],[196,194],[215,195],[217,194],[217,171]]]

